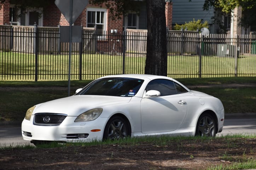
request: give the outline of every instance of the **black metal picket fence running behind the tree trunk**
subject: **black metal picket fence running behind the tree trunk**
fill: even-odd
[[[144,74],[146,39],[146,30],[84,28],[72,43],[71,80]],[[169,31],[167,49],[173,78],[256,76],[255,35]],[[0,80],[67,80],[68,52],[59,27],[0,26]]]

